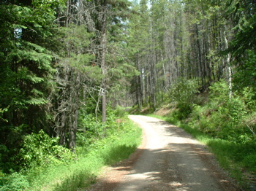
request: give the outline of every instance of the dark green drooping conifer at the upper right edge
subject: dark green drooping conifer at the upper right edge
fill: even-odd
[[[235,69],[235,87],[256,89],[255,43],[256,43],[256,6],[255,1],[227,1],[226,15],[233,21],[234,36],[225,53],[231,54]]]

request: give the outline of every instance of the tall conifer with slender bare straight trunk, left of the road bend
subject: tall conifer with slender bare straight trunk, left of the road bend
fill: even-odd
[[[95,34],[93,52],[96,55],[95,63],[102,70],[102,122],[106,121],[107,117],[107,92],[108,92],[108,40],[111,40],[111,32],[115,24],[120,24],[121,20],[129,15],[129,1],[83,1],[84,9],[87,9],[89,14],[84,15],[86,26],[89,31]],[[114,35],[114,34],[113,34]]]

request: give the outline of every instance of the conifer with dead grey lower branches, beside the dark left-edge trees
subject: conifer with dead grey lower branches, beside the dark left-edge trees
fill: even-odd
[[[85,26],[69,24],[61,31],[63,48],[54,76],[57,86],[50,97],[54,134],[59,137],[59,144],[75,151],[79,109],[86,101],[89,87],[99,85],[101,73],[91,62],[94,60],[94,55],[89,53],[92,34]]]

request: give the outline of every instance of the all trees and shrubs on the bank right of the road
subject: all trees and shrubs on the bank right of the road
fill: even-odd
[[[255,1],[142,0],[133,9],[138,109],[157,111],[165,103],[174,108],[170,122],[211,137],[226,167],[233,161],[231,174],[255,172]]]

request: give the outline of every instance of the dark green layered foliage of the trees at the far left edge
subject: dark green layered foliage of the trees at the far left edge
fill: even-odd
[[[52,51],[58,44],[53,20],[59,2],[4,1],[0,6],[0,165],[4,172],[20,169],[23,136],[39,129],[50,132],[48,97],[56,72]]]

